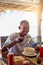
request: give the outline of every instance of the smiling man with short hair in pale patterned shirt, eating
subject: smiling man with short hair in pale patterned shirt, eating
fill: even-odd
[[[11,34],[2,47],[2,52],[10,49],[14,54],[20,54],[25,47],[33,47],[35,42],[32,37],[28,34],[29,23],[27,20],[22,20],[19,26],[19,33]]]

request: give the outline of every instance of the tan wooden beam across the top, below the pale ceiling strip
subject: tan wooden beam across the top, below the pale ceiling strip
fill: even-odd
[[[20,4],[11,4],[11,3],[1,3],[0,2],[0,11],[4,10],[19,10],[19,11],[28,11],[28,12],[37,12],[39,9],[39,6],[41,6],[41,11],[43,11],[43,4],[34,4],[34,5],[20,5]]]

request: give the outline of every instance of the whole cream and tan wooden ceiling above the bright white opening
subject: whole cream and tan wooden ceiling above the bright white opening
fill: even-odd
[[[43,10],[43,0],[0,0],[0,11],[6,9],[37,11],[40,4]]]

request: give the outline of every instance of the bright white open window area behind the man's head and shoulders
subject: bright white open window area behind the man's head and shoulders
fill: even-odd
[[[35,12],[12,11],[6,10],[0,13],[0,36],[10,35],[13,32],[18,32],[20,21],[26,19],[30,23],[29,34],[32,37],[37,36],[37,14]]]

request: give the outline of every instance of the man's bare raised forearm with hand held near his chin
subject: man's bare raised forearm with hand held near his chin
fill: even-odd
[[[4,52],[7,50],[7,48],[11,48],[13,45],[22,42],[24,39],[24,37],[19,36],[18,38],[16,38],[15,40],[13,40],[10,44],[5,45],[4,47],[2,47],[1,51]]]

